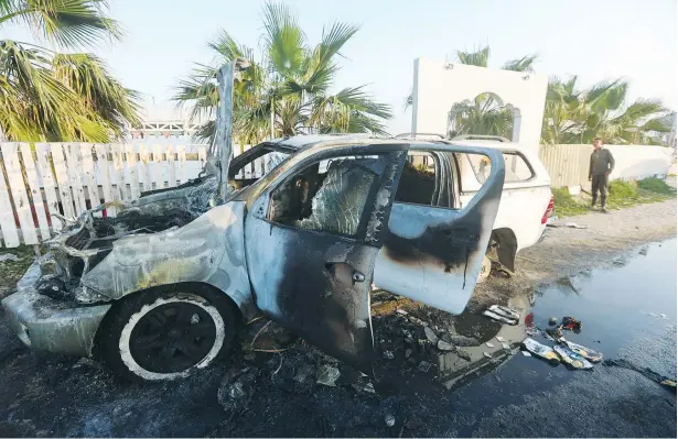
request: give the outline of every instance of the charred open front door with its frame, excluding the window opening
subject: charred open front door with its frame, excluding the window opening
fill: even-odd
[[[332,155],[372,152],[365,150],[336,149]],[[366,371],[374,359],[369,314],[373,268],[407,153],[402,145],[378,152],[388,152],[388,161],[378,171],[357,238],[269,221],[270,188],[252,205],[245,238],[257,306],[309,342]],[[313,156],[314,161],[322,158],[325,156]],[[278,172],[295,175],[308,164],[300,160]]]

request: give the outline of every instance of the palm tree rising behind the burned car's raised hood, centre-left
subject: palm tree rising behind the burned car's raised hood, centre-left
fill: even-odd
[[[240,144],[269,135],[305,132],[369,132],[384,134],[388,106],[373,100],[365,86],[331,94],[341,50],[358,28],[334,23],[321,42],[309,45],[297,17],[284,4],[263,7],[262,61],[254,50],[237,43],[226,31],[208,44],[216,54],[212,65],[198,64],[176,87],[174,100],[187,106],[191,117],[213,119],[218,103],[216,72],[237,57],[250,67],[235,80],[234,136]],[[204,123],[198,138],[213,139],[214,121]]]

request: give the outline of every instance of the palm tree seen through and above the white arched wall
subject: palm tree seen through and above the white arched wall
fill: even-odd
[[[477,67],[487,67],[489,62],[489,46],[480,47],[473,52],[456,51],[460,64]],[[537,55],[525,55],[510,59],[502,66],[503,70],[535,73]],[[473,101],[456,102],[448,114],[449,135],[482,134],[502,135],[510,138],[513,134],[514,116],[494,94],[482,94]],[[406,108],[412,103],[412,96],[406,99]]]

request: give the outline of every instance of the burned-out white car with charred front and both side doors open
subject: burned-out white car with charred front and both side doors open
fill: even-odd
[[[115,217],[85,212],[46,243],[2,300],[25,344],[100,355],[128,377],[169,380],[226,355],[238,323],[262,312],[367,371],[373,283],[449,312],[464,309],[502,196],[501,152],[302,135],[232,161],[223,110],[198,178],[117,205]],[[491,164],[463,207],[459,154]],[[260,176],[241,172],[254,161],[268,166]]]

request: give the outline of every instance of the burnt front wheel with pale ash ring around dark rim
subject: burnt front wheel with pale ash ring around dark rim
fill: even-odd
[[[235,333],[233,306],[208,296],[149,292],[116,304],[99,329],[103,359],[132,380],[175,380],[206,367],[228,352]]]

